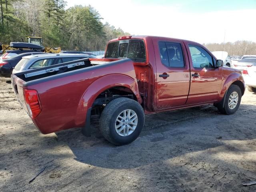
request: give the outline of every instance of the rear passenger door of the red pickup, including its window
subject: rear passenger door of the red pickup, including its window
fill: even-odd
[[[190,85],[190,69],[184,43],[169,38],[152,40],[156,57],[157,108],[185,105]]]

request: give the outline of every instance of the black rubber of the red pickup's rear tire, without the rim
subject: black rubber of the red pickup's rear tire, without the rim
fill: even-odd
[[[116,118],[124,110],[133,110],[137,117],[138,123],[134,131],[128,136],[120,136],[116,132]],[[145,114],[142,106],[135,100],[129,98],[116,98],[109,102],[100,116],[100,131],[106,140],[115,145],[125,145],[133,142],[144,126]]]

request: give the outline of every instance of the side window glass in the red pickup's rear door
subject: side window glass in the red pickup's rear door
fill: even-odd
[[[162,64],[168,67],[184,67],[184,58],[181,45],[173,42],[159,42],[159,51]]]

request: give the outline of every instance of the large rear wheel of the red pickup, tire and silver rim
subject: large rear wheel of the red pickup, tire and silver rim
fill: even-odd
[[[144,126],[144,110],[135,100],[116,98],[109,102],[100,116],[100,131],[115,145],[133,142]]]

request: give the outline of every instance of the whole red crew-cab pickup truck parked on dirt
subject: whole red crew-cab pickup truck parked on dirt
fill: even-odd
[[[124,36],[108,42],[103,59],[86,58],[12,75],[18,101],[43,134],[82,127],[100,118],[113,144],[134,141],[144,114],[214,104],[233,114],[245,85],[196,42]]]

